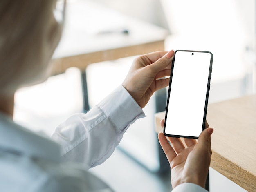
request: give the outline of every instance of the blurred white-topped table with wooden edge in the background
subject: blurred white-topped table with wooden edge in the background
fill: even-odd
[[[128,30],[128,34],[120,31]],[[112,31],[112,32],[111,32]],[[63,36],[53,56],[52,74],[69,67],[164,50],[168,31],[93,1],[67,3]]]

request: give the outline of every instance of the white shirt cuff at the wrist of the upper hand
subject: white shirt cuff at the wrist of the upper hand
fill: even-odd
[[[119,85],[97,105],[110,116],[119,129],[124,129],[135,120],[145,117],[144,112],[127,90]]]

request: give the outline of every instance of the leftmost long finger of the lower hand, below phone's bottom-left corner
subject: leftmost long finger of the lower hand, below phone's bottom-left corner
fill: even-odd
[[[173,159],[177,156],[177,154],[175,153],[175,151],[173,150],[173,147],[171,147],[170,143],[168,142],[168,140],[166,139],[163,133],[158,134],[158,140],[162,149],[164,150],[164,153],[169,163],[171,163],[171,161],[173,161]]]

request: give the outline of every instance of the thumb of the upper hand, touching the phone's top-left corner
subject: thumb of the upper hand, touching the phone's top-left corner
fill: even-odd
[[[166,67],[168,67],[168,65],[171,64],[173,57],[174,57],[174,51],[171,50],[167,54],[159,58],[157,61],[155,61],[155,63],[153,63],[150,66],[153,68],[153,71],[158,73],[159,71],[166,69]]]

